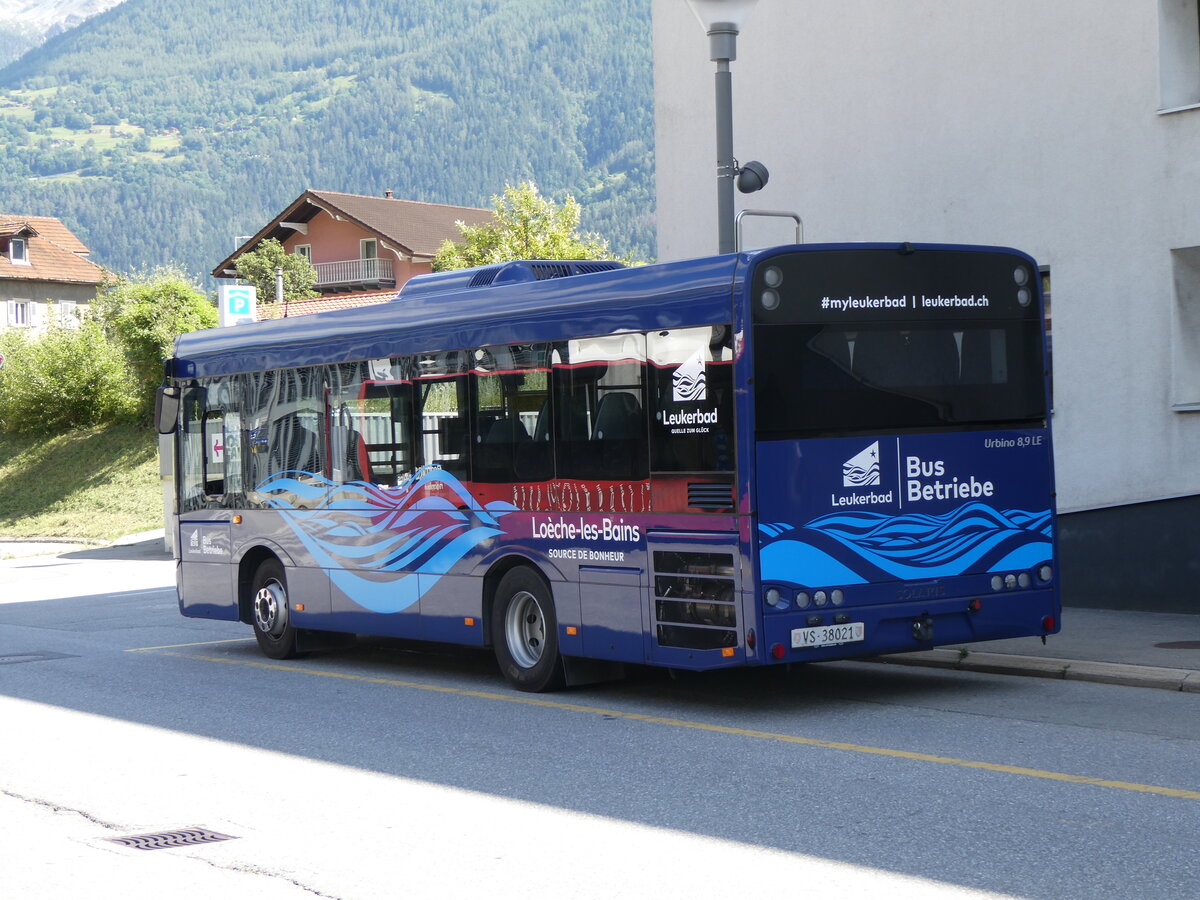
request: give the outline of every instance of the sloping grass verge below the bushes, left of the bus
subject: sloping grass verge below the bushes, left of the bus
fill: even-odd
[[[162,528],[152,431],[0,434],[0,538],[108,541],[152,528]]]

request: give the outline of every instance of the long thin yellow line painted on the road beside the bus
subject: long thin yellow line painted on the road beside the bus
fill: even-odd
[[[214,641],[212,643],[217,643]],[[220,643],[229,643],[223,641]],[[187,644],[181,644],[187,646]],[[151,649],[151,648],[146,648]],[[626,721],[646,722],[648,725],[664,725],[672,728],[689,728],[691,731],[706,731],[716,734],[731,734],[740,738],[755,738],[757,740],[774,740],[781,744],[798,744],[800,746],[817,746],[824,750],[842,750],[853,754],[870,754],[871,756],[886,756],[893,760],[912,760],[916,762],[930,762],[941,766],[958,766],[966,769],[980,769],[983,772],[1000,772],[1007,775],[1024,775],[1025,778],[1037,778],[1048,781],[1066,781],[1073,785],[1091,785],[1093,787],[1112,787],[1118,791],[1135,791],[1139,793],[1153,793],[1162,797],[1175,797],[1186,800],[1200,800],[1200,791],[1187,791],[1178,787],[1160,787],[1158,785],[1140,785],[1134,781],[1112,781],[1104,778],[1090,778],[1087,775],[1070,775],[1063,772],[1049,772],[1045,769],[1031,769],[1025,766],[1004,766],[995,762],[980,762],[978,760],[959,760],[953,756],[936,756],[934,754],[919,754],[911,750],[892,750],[884,746],[869,746],[865,744],[847,744],[840,740],[821,740],[818,738],[804,738],[797,734],[779,734],[770,731],[755,731],[752,728],[736,728],[728,725],[713,725],[709,722],[697,722],[689,719],[676,719],[664,715],[646,715],[644,713],[629,713],[620,709],[606,709],[604,707],[590,707],[581,703],[564,703],[557,700],[545,700],[528,694],[494,694],[492,691],[466,690],[463,688],[446,688],[438,684],[426,684],[422,682],[406,682],[397,678],[378,678],[374,676],[349,674],[347,672],[331,672],[320,668],[304,668],[301,666],[287,666],[278,662],[260,662],[258,660],[222,659],[220,656],[196,656],[186,653],[168,653],[168,656],[181,656],[184,659],[203,660],[205,662],[224,662],[234,666],[250,666],[252,668],[269,668],[276,672],[293,672],[295,674],[314,676],[318,678],[341,678],[347,682],[362,682],[365,684],[384,684],[391,688],[409,688],[412,690],[430,691],[433,694],[452,694],[460,697],[473,697],[476,700],[496,700],[504,703],[521,703],[530,707],[542,707],[545,709],[562,709],[569,713],[586,713],[588,715],[604,715]]]

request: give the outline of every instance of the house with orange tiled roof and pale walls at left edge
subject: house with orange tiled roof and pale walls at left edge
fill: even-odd
[[[104,277],[88,253],[58,218],[0,212],[0,329],[77,323]]]

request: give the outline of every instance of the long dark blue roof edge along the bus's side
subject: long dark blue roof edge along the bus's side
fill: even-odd
[[[170,373],[234,374],[726,323],[737,263],[736,256],[707,257],[482,287],[457,274],[425,276],[384,304],[180,335]]]

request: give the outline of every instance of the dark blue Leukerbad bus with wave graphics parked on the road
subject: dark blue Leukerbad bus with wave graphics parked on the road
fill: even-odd
[[[182,335],[179,605],[528,691],[1060,628],[1038,268],[1001,247],[529,260]]]

